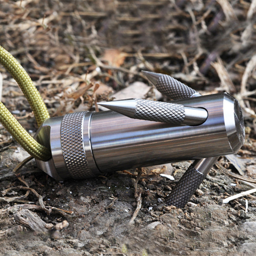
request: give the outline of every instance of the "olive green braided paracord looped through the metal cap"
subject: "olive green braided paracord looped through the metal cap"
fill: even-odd
[[[43,102],[43,99],[37,91],[31,78],[22,68],[20,63],[0,45],[0,63],[13,76],[19,84],[20,89],[27,98],[36,118],[38,126],[45,119],[50,118],[49,112]],[[12,137],[17,140],[21,147],[31,156],[47,161],[51,157],[50,150],[39,144],[29,133],[19,124],[10,111],[0,102],[0,122],[5,129],[10,132]]]

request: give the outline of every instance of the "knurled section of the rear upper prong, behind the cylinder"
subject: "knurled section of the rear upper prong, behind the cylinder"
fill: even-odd
[[[159,92],[173,100],[190,98],[197,93],[194,89],[168,75],[162,75],[155,86]]]

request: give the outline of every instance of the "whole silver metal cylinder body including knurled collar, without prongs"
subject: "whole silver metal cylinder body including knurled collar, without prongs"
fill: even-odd
[[[170,127],[164,123],[131,119],[114,111],[103,111],[79,114],[80,121],[76,122],[72,115],[76,119],[78,114],[69,114],[69,122],[63,123],[62,120],[61,124],[56,124],[58,128],[53,127],[56,122],[50,118],[41,127],[42,132],[38,131],[37,139],[44,143],[46,137],[51,138],[49,143],[53,157],[47,164],[42,161],[37,163],[45,172],[53,173],[56,179],[59,178],[55,173],[61,179],[87,178],[134,167],[233,154],[243,145],[241,108],[229,94],[173,102],[206,109],[207,120],[198,126]],[[47,135],[43,130],[49,126],[47,132],[50,134]],[[56,130],[58,132],[52,134]],[[66,135],[63,135],[64,130]],[[60,142],[54,142],[57,145],[55,148],[53,141],[58,140]],[[65,157],[68,145],[73,151]],[[75,156],[76,161],[73,159]],[[70,162],[70,159],[73,161]],[[84,169],[79,167],[79,159],[85,161],[82,164]],[[54,166],[55,172],[51,171]]]

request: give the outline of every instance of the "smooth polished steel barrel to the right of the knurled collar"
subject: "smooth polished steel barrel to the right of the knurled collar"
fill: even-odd
[[[91,144],[99,170],[131,169],[238,150],[236,143],[241,145],[243,140],[231,138],[238,136],[234,114],[237,102],[233,97],[224,93],[179,102],[205,108],[209,115],[206,122],[198,126],[169,127],[127,119],[111,111],[95,113],[91,122]]]

